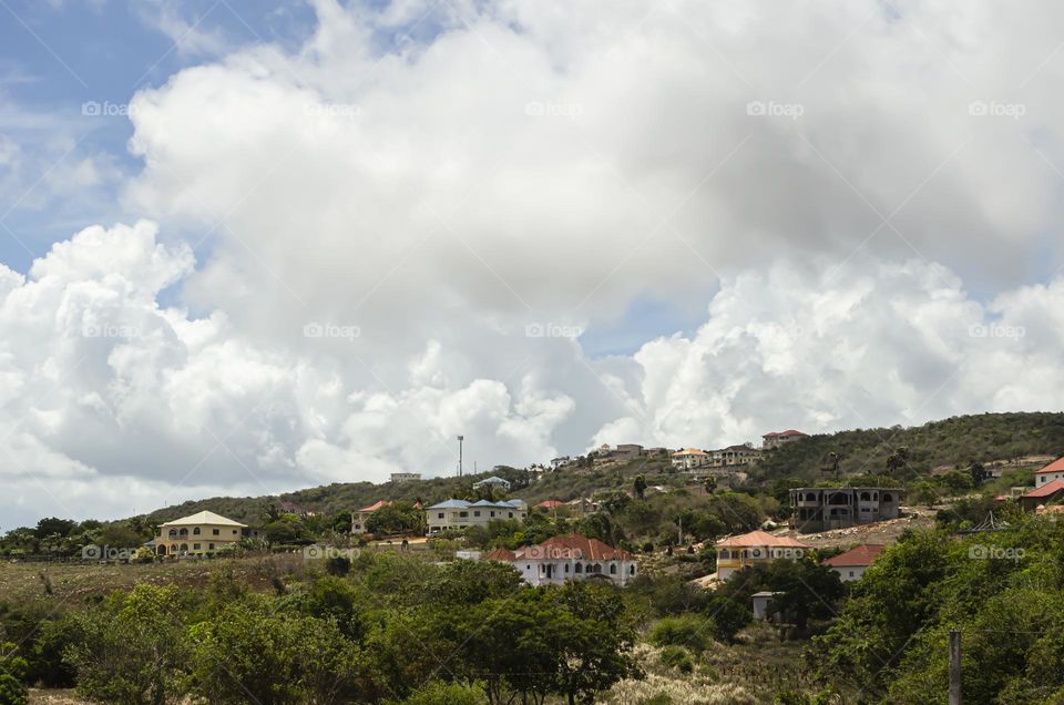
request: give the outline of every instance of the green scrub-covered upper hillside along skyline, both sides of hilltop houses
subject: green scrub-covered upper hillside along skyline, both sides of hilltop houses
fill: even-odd
[[[933,421],[912,428],[855,429],[830,435],[810,436],[766,454],[753,471],[754,479],[788,478],[821,480],[829,453],[839,456],[842,476],[882,473],[887,458],[900,447],[908,447],[909,461],[904,474],[927,474],[939,466],[966,467],[972,461],[1019,460],[1027,456],[1064,454],[1064,413],[983,413]],[[566,469],[546,473],[529,486],[523,470],[502,467],[463,478],[432,478],[420,482],[372,484],[370,482],[334,483],[287,492],[277,497],[216,497],[168,507],[146,515],[149,523],[208,509],[245,523],[257,523],[270,503],[294,502],[323,514],[335,514],[371,504],[379,499],[420,499],[436,502],[471,492],[478,479],[498,474],[513,483],[513,497],[536,503],[544,499],[570,500],[612,489],[630,488],[635,474],[647,481],[665,482],[669,470],[666,459],[641,459],[610,463],[594,469]]]

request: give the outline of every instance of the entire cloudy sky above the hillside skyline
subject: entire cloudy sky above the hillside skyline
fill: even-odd
[[[1062,20],[0,0],[0,530],[1060,411]]]

